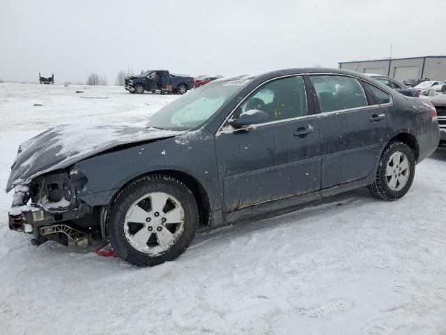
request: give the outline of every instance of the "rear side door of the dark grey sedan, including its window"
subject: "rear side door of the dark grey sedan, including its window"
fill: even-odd
[[[312,75],[321,128],[322,180],[328,188],[364,179],[380,156],[385,110],[367,96],[355,77]]]

